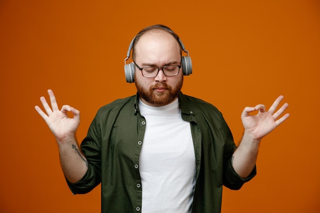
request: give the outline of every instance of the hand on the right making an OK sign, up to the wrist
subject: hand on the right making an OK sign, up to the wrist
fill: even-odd
[[[249,134],[254,140],[261,140],[261,138],[287,120],[289,113],[286,113],[282,117],[280,117],[280,115],[288,108],[288,103],[283,104],[281,108],[276,111],[282,99],[283,96],[279,96],[268,111],[265,110],[263,104],[258,104],[255,107],[245,107],[241,114],[244,132]],[[253,111],[259,112],[256,115],[249,115],[249,113]],[[280,119],[278,119],[279,117]]]

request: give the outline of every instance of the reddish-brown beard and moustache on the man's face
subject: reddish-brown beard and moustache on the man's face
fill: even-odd
[[[135,79],[135,87],[138,90],[140,98],[144,99],[146,102],[153,106],[164,106],[173,102],[179,95],[182,88],[182,83],[184,79],[183,76],[181,80],[173,88],[168,86],[167,83],[157,82],[155,85],[152,85],[149,89],[143,88],[138,79]],[[156,88],[162,87],[165,88],[165,92],[157,92]]]

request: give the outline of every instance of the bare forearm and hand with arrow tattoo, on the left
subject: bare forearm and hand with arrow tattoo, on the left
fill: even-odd
[[[47,123],[49,129],[56,137],[59,148],[60,163],[65,177],[72,183],[80,180],[87,171],[87,161],[79,151],[76,139],[76,131],[80,124],[80,112],[68,105],[58,108],[56,98],[51,89],[48,90],[52,108],[44,97],[40,98],[44,113],[39,106],[35,106],[36,111]],[[73,118],[68,117],[67,112],[72,112]]]

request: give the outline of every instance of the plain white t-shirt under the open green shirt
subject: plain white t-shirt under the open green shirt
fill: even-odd
[[[178,100],[161,107],[139,102],[146,119],[140,154],[142,213],[189,213],[195,186],[195,153],[190,123]]]

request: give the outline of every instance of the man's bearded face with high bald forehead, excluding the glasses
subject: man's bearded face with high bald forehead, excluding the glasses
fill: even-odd
[[[150,31],[135,45],[135,63],[140,67],[180,65],[181,49],[175,38],[164,31]],[[141,101],[150,106],[164,106],[178,98],[182,87],[182,67],[176,76],[165,76],[162,70],[153,78],[146,78],[135,67],[135,86]]]

